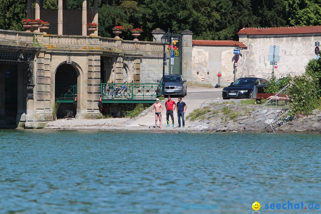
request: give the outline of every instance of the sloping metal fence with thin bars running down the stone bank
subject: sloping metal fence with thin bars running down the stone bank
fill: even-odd
[[[257,132],[274,132],[281,120],[290,111],[289,84],[274,96],[266,98],[263,104],[255,104],[255,123]],[[274,132],[275,133],[275,132]]]

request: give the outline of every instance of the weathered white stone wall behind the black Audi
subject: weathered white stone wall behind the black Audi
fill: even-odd
[[[270,45],[280,46],[280,62],[274,73],[277,79],[290,74],[301,75],[309,60],[313,59],[314,42],[320,41],[317,35],[277,35],[277,36],[247,36],[240,35],[239,41],[247,45],[246,50],[241,50],[238,77],[263,77],[271,76],[272,65],[267,60]]]

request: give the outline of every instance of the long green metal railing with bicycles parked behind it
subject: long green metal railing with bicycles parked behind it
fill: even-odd
[[[162,86],[159,83],[100,83],[100,94],[103,102],[155,102],[162,96]]]

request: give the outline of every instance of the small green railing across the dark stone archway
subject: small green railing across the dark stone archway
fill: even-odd
[[[56,102],[74,102],[77,95],[77,84],[56,84]]]

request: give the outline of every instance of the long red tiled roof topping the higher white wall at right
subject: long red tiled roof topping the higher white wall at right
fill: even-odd
[[[238,32],[238,34],[247,34],[247,35],[305,34],[305,33],[321,33],[321,26],[243,28]]]

